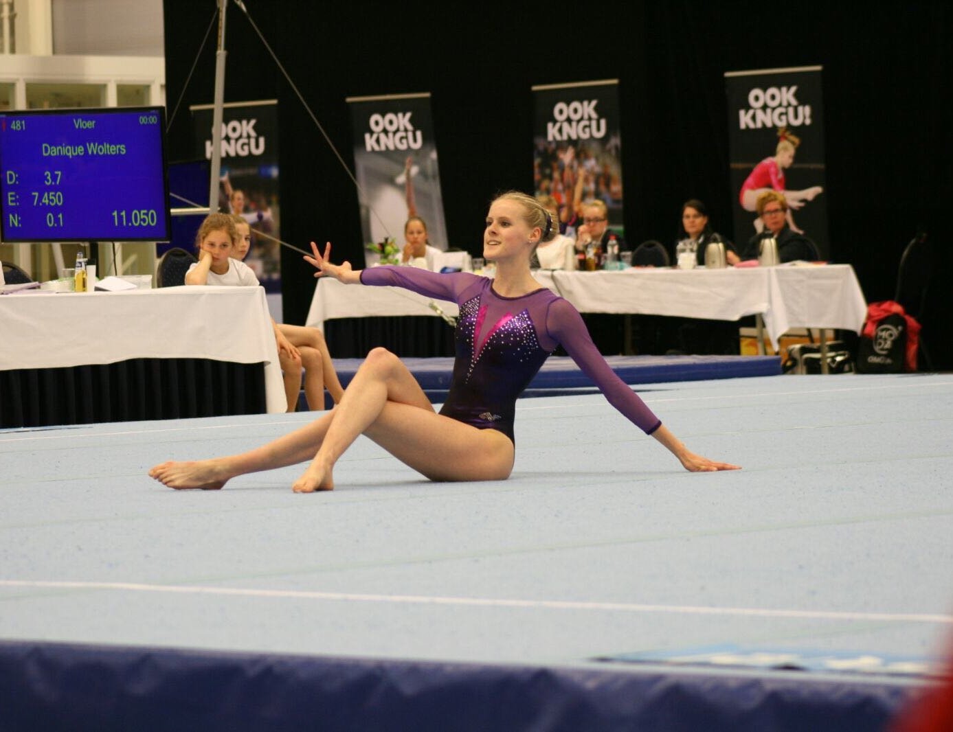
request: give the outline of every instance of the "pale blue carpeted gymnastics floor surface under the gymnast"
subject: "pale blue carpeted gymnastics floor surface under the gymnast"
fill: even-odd
[[[359,438],[314,495],[291,492],[299,467],[210,492],[146,476],[314,413],[2,432],[0,640],[762,683],[803,668],[794,683],[893,689],[895,710],[953,630],[953,377],[638,390],[743,469],[684,472],[598,394],[518,403],[507,481],[431,483]]]

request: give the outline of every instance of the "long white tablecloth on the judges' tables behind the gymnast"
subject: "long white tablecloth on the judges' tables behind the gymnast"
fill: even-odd
[[[850,265],[673,269],[633,267],[622,271],[538,271],[541,285],[566,298],[579,312],[671,315],[738,320],[760,314],[771,343],[792,327],[860,332],[867,306]],[[322,280],[314,288],[307,325],[335,318],[375,315],[436,315],[434,301],[399,287],[341,285]],[[437,301],[456,316],[454,303]]]

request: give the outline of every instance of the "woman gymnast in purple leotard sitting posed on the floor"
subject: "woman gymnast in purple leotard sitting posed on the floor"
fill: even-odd
[[[220,488],[237,475],[310,460],[295,492],[331,490],[334,467],[364,434],[434,481],[497,481],[513,470],[513,420],[518,394],[558,345],[592,378],[609,402],[664,445],[687,470],[731,470],[691,452],[606,364],[577,309],[533,279],[530,256],[555,236],[555,222],[535,198],[510,191],[491,204],[483,256],[496,279],[469,272],[440,274],[416,267],[355,271],[330,261],[331,245],[305,257],[344,284],[406,287],[456,301],[456,362],[446,402],[437,413],[407,366],[374,348],[357,369],[340,404],[294,432],[248,452],[190,463],[155,465],[149,474],[172,488]]]

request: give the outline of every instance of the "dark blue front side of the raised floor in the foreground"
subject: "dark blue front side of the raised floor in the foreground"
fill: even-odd
[[[314,658],[0,641],[3,729],[738,732],[881,729],[881,680]],[[741,701],[740,701],[741,700]]]

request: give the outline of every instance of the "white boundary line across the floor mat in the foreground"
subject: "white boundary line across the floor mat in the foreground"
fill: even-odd
[[[953,615],[936,615],[924,613],[837,612],[831,610],[772,610],[759,607],[705,607],[696,605],[657,605],[636,603],[580,603],[560,600],[508,600],[504,598],[429,597],[425,595],[372,595],[354,592],[310,592],[302,590],[190,586],[182,584],[0,580],[0,587],[126,590],[131,592],[167,592],[185,595],[230,595],[249,598],[280,598],[286,600],[320,600],[351,603],[467,605],[476,607],[516,607],[547,610],[609,610],[635,613],[682,613],[686,615],[738,615],[760,618],[800,618],[862,622],[876,621],[879,623],[895,622],[953,624]]]

